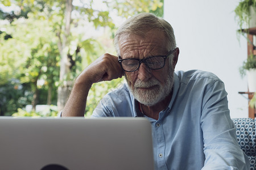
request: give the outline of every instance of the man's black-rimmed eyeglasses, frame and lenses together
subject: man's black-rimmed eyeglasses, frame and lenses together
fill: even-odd
[[[158,70],[164,67],[164,65],[166,64],[166,58],[168,58],[168,56],[170,56],[175,51],[175,49],[170,50],[170,52],[168,52],[166,56],[151,56],[143,59],[137,59],[137,58],[121,59],[121,56],[119,56],[118,62],[121,65],[122,69],[127,72],[133,72],[138,70],[142,62],[145,65],[147,65],[148,68],[152,70]]]

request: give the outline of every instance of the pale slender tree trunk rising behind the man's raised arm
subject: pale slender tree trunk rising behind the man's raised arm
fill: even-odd
[[[70,24],[71,24],[71,12],[73,10],[72,0],[66,0],[65,5],[65,30],[61,35],[59,33],[59,43],[58,48],[60,51],[60,85],[58,87],[57,95],[57,107],[59,111],[62,111],[64,105],[68,99],[68,96],[71,92],[71,83],[69,83],[68,74],[70,73],[70,62],[68,60],[68,36],[70,33]]]

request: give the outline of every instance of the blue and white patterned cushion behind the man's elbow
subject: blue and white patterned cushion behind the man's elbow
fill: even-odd
[[[243,152],[249,157],[250,169],[256,169],[256,119],[233,118],[232,120],[237,127],[237,141]]]

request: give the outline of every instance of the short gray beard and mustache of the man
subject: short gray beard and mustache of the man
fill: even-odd
[[[131,94],[133,94],[134,98],[138,100],[139,103],[147,106],[152,106],[164,100],[171,93],[173,84],[174,84],[174,71],[170,70],[170,72],[167,75],[167,79],[163,85],[159,82],[159,80],[152,77],[148,82],[142,82],[141,80],[136,80],[136,82],[134,83],[134,90],[132,90],[130,86],[128,87],[131,91]],[[152,87],[152,86],[154,86],[154,88],[150,90],[141,90],[140,88],[138,88],[138,87],[142,88],[142,87]]]

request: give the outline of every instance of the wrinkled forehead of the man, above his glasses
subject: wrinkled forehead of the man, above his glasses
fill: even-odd
[[[165,55],[169,50],[166,40],[165,33],[159,30],[151,30],[144,36],[123,34],[119,37],[120,56],[124,59]]]

